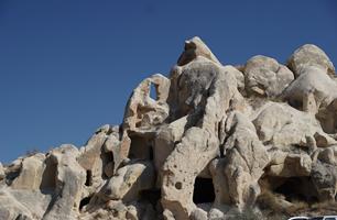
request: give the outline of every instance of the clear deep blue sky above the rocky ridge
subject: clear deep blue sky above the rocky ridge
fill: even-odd
[[[222,64],[284,63],[305,43],[337,65],[336,0],[0,0],[0,162],[119,124],[132,89],[200,36]]]

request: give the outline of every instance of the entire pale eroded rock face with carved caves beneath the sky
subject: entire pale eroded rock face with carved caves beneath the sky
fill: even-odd
[[[226,219],[264,191],[280,207],[335,201],[336,81],[315,45],[287,67],[259,55],[236,68],[194,37],[168,78],[133,90],[121,125],[0,163],[0,219]]]

